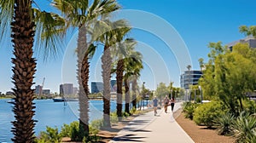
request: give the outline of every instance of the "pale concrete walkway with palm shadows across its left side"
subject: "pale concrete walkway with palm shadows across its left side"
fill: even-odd
[[[176,103],[174,112],[180,107],[181,103]],[[157,111],[157,116],[154,116],[154,112],[148,112],[135,117],[109,142],[193,143],[194,141],[177,124],[170,111],[171,107],[168,106],[167,113],[162,108]]]

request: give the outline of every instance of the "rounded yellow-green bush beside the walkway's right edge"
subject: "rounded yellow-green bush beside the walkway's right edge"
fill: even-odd
[[[218,101],[204,103],[195,109],[193,120],[198,125],[211,128],[213,121],[224,114],[224,108]]]

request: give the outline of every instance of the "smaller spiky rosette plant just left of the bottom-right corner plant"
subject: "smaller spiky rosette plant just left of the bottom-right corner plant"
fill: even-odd
[[[231,135],[233,134],[234,121],[235,116],[227,112],[214,121],[214,126],[218,128],[219,135]]]

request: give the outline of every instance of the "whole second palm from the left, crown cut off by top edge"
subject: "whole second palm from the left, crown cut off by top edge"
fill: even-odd
[[[54,0],[55,8],[71,21],[72,26],[79,28],[78,38],[78,82],[79,82],[79,129],[84,135],[89,134],[89,58],[95,51],[95,46],[88,42],[87,36],[90,33],[94,21],[102,14],[109,14],[117,9],[119,5],[115,0],[94,0],[89,6],[89,0]],[[88,46],[90,45],[90,46]],[[90,49],[91,48],[91,49]]]

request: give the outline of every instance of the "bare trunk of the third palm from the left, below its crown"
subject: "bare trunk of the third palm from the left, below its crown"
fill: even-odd
[[[104,46],[102,55],[102,77],[103,77],[103,126],[110,127],[110,75],[111,54],[108,45]]]

